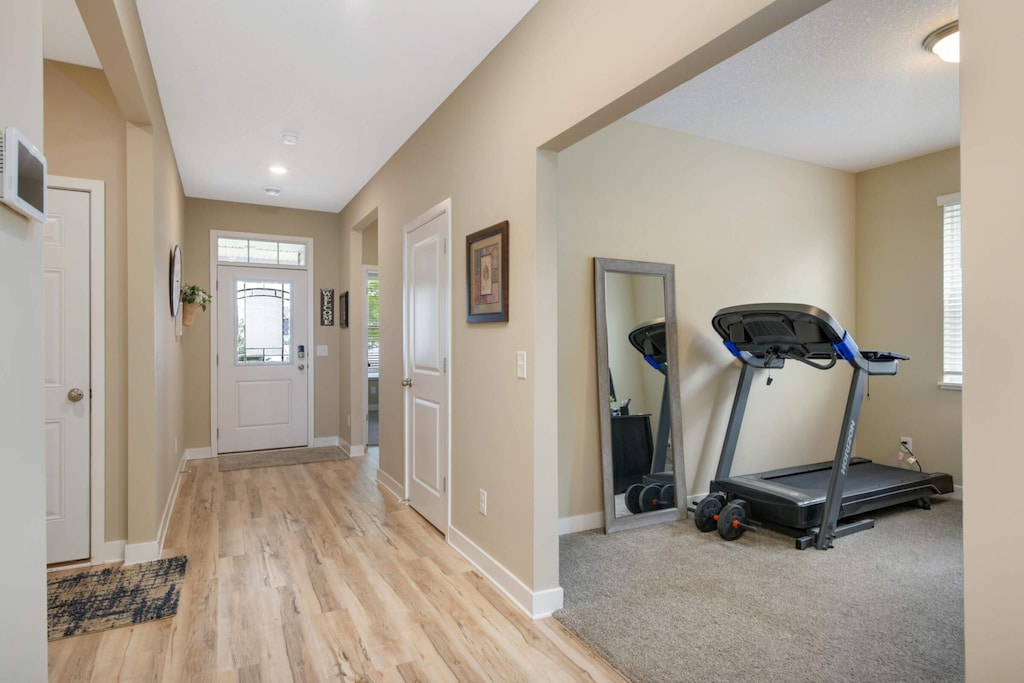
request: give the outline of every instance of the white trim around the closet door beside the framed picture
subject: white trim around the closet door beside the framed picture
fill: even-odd
[[[445,519],[447,523],[442,529],[444,532],[444,540],[449,541],[450,533],[452,530],[452,490],[454,489],[454,475],[452,472],[452,366],[455,361],[452,359],[452,198],[449,198],[438,204],[437,206],[423,212],[410,222],[406,223],[402,228],[402,246],[401,246],[401,361],[402,361],[402,377],[410,377],[411,370],[409,368],[409,330],[406,328],[406,323],[409,321],[409,297],[406,296],[406,292],[409,289],[409,249],[407,243],[409,241],[409,236],[411,232],[419,227],[422,227],[429,223],[434,218],[438,216],[446,215],[447,222],[444,225],[444,267],[447,268],[447,301],[445,309],[447,311],[446,321],[444,321],[443,328],[443,339],[444,339],[444,354],[447,357],[447,370],[444,373],[444,402],[447,412],[447,442],[445,445],[444,458],[447,461],[445,470],[447,471],[447,483],[445,486],[444,498],[446,513]],[[378,389],[379,390],[379,389]],[[411,463],[409,462],[409,421],[411,419],[408,401],[406,398],[402,399],[402,407],[404,412],[403,421],[403,434],[402,442],[404,445],[403,459],[406,461],[406,471],[403,474],[404,479],[404,495],[402,498],[408,501],[411,495]]]

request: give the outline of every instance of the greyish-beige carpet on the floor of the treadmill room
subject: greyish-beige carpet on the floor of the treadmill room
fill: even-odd
[[[692,518],[567,533],[555,618],[634,683],[963,682],[962,514],[882,510],[827,551]]]

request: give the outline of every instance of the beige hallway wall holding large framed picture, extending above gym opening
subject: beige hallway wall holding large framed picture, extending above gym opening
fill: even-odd
[[[397,339],[402,227],[451,198],[451,524],[535,591],[558,586],[559,445],[555,176],[538,150],[571,144],[820,3],[775,3],[714,40],[767,4],[542,0],[342,211],[343,249],[376,211],[381,290],[394,293],[382,297],[382,333]],[[469,326],[465,237],[500,220],[511,226],[510,322]],[[356,268],[342,276],[354,289]],[[401,346],[382,346],[381,361],[381,385],[397,387]],[[385,388],[380,467],[399,482],[403,420],[402,395]]]

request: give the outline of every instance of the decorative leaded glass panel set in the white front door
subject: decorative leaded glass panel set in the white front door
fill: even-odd
[[[234,282],[234,324],[240,365],[292,361],[292,284]]]

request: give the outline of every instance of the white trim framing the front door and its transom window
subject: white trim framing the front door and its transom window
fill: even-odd
[[[307,273],[307,284],[306,284],[306,367],[311,370],[306,374],[306,445],[313,444],[313,415],[315,414],[315,405],[313,403],[313,377],[316,374],[316,361],[314,350],[316,345],[313,343],[313,315],[316,314],[314,308],[318,306],[313,306],[313,299],[315,298],[313,292],[316,288],[313,286],[313,239],[296,237],[294,234],[267,234],[264,232],[234,232],[231,230],[210,230],[210,286],[211,289],[215,290],[217,282],[217,266],[220,265],[217,261],[217,239],[218,238],[236,238],[239,240],[276,240],[280,242],[292,242],[301,243],[306,246],[306,264],[304,266],[278,266],[268,265],[265,263],[227,263],[225,265],[242,266],[252,265],[256,268],[284,268],[287,270],[301,270],[305,269]],[[213,301],[210,302],[210,319],[217,319],[217,299],[214,297]],[[315,319],[319,319],[317,315]],[[217,328],[219,326],[215,323],[210,325],[210,453],[211,456],[216,458],[219,455],[219,449],[217,445]]]

